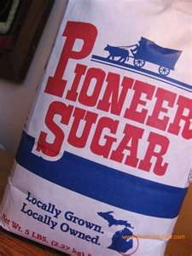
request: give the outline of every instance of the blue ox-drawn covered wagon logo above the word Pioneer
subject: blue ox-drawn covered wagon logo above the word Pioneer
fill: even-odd
[[[107,44],[103,51],[108,55],[92,55],[91,61],[118,67],[131,73],[142,74],[151,79],[192,92],[192,84],[170,77],[175,70],[182,50],[164,48],[142,37],[137,44],[112,46]],[[149,66],[148,66],[149,65]]]

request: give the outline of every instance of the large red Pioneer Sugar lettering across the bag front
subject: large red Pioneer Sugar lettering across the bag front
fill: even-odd
[[[168,167],[165,160],[170,144],[168,135],[186,140],[192,137],[192,100],[154,84],[81,63],[74,67],[73,82],[69,84],[63,79],[67,64],[90,55],[96,43],[96,26],[68,21],[63,37],[66,41],[55,75],[49,77],[44,90],[58,97],[50,103],[45,117],[45,125],[55,138],[49,143],[49,134],[41,131],[36,150],[56,157],[65,141],[75,148],[89,147],[91,154],[108,160],[164,175]],[[77,39],[83,41],[83,46],[74,51]],[[81,108],[75,107],[75,103]],[[55,122],[56,115],[61,125]],[[141,158],[138,151],[143,150],[145,132],[148,148]]]

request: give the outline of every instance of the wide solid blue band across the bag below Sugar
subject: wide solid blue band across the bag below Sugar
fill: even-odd
[[[23,132],[16,160],[32,173],[114,207],[158,218],[175,218],[187,189],[152,182],[65,152],[48,161],[32,154],[34,138]],[[65,198],[65,197],[64,197]]]

